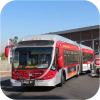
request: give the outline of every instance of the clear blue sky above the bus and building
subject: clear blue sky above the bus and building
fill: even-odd
[[[12,0],[0,12],[0,52],[8,38],[94,25],[100,25],[100,13],[88,0]]]

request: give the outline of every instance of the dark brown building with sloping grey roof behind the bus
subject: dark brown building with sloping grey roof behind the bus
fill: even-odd
[[[64,30],[58,32],[50,32],[47,34],[57,34],[69,38],[77,43],[89,46],[94,51],[100,49],[100,25],[89,26],[71,30]],[[100,50],[99,50],[100,51]]]

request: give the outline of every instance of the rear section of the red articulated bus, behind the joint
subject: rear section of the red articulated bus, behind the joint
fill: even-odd
[[[80,54],[80,65],[81,72],[91,72],[93,70],[94,64],[94,51],[87,46],[80,45],[81,54]]]

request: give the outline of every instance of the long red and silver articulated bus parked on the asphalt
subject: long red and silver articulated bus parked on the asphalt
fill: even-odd
[[[91,48],[70,39],[27,36],[14,49],[11,86],[62,86],[65,80],[91,70],[93,59]]]

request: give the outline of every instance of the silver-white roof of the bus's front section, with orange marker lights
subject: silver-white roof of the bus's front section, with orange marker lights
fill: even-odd
[[[23,37],[20,41],[30,41],[32,39],[34,39],[34,40],[39,40],[39,39],[41,39],[41,40],[54,40],[55,42],[62,41],[62,42],[66,42],[69,44],[79,46],[78,43],[76,43],[68,38],[65,38],[65,37],[62,37],[59,35],[48,35],[48,34],[26,36],[26,37]]]

